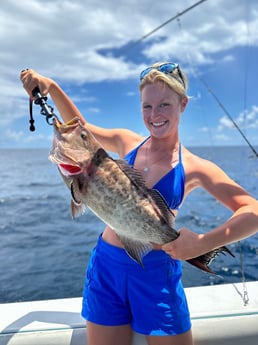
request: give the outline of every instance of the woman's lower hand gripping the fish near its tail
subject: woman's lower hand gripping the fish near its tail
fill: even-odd
[[[204,235],[196,234],[187,228],[179,231],[180,236],[172,242],[162,246],[168,255],[177,260],[189,260],[207,252],[204,246]]]

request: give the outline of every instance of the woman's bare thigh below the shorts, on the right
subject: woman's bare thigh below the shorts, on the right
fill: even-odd
[[[179,335],[146,336],[148,345],[193,345],[192,331]]]

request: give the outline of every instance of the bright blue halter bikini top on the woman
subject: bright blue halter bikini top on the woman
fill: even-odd
[[[148,140],[146,138],[135,149],[127,153],[124,159],[130,165],[134,165],[139,148]],[[185,171],[182,164],[181,144],[179,144],[178,164],[167,172],[153,187],[160,192],[172,210],[177,210],[183,201],[185,192]]]

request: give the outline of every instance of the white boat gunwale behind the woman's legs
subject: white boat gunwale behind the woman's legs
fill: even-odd
[[[246,287],[246,306],[242,284],[186,289],[195,345],[258,345],[258,281]],[[86,345],[80,310],[81,298],[0,304],[0,345]]]

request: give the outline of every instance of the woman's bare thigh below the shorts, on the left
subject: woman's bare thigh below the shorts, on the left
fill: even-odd
[[[87,345],[131,345],[131,326],[102,326],[87,322]]]

